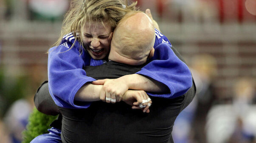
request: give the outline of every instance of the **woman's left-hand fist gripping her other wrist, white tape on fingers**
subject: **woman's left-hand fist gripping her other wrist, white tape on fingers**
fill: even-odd
[[[100,99],[107,103],[120,102],[124,93],[129,89],[126,82],[120,78],[97,80],[93,81],[92,84],[103,84]]]

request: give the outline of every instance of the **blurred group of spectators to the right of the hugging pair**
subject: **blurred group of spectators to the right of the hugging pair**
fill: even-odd
[[[174,123],[175,143],[256,143],[256,92],[252,78],[238,78],[231,98],[218,99],[214,89],[217,63],[202,54],[192,58],[196,97]]]

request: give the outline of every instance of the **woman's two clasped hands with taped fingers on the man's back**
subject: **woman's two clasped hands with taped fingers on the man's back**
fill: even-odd
[[[100,99],[107,103],[124,101],[132,106],[132,109],[141,109],[144,113],[149,113],[152,100],[143,90],[130,90],[129,86],[116,79],[102,79],[93,81],[92,84],[103,85],[100,92]]]

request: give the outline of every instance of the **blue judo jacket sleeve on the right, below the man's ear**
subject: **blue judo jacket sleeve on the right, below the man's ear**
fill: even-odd
[[[160,43],[155,47],[152,61],[137,72],[169,88],[169,93],[166,94],[148,92],[151,96],[175,98],[186,93],[192,86],[192,76],[188,66],[174,54],[171,47],[169,43]]]

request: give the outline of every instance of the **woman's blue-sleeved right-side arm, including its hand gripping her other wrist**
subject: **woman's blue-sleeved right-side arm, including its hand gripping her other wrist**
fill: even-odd
[[[128,89],[144,90],[151,96],[163,98],[175,98],[186,93],[192,86],[192,76],[186,64],[179,59],[180,54],[172,49],[169,44],[161,43],[155,48],[153,60],[137,74],[93,81],[93,84],[104,84],[101,100],[111,97],[120,101]]]

